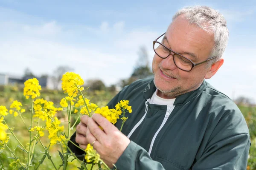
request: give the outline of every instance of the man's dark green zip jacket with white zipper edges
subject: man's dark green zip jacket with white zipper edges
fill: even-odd
[[[204,81],[167,107],[149,104],[155,90],[152,79],[141,79],[108,104],[114,108],[120,100],[129,100],[133,110],[125,114],[122,133],[131,143],[116,162],[119,170],[246,170],[249,130],[230,98]],[[117,121],[116,127],[121,124]]]

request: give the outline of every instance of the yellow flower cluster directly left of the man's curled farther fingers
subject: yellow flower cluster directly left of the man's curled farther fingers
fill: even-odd
[[[48,121],[46,122],[46,129],[49,132],[48,138],[50,139],[51,145],[54,145],[57,142],[61,142],[61,140],[65,139],[65,136],[61,135],[61,133],[64,132],[64,126],[60,127],[60,124],[61,121],[59,121],[57,117],[54,117],[53,122],[51,119],[48,119]]]

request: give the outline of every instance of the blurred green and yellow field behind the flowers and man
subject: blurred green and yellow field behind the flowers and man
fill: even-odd
[[[89,98],[91,101],[98,104],[100,107],[105,106],[107,102],[115,95],[115,92],[109,92],[109,91],[87,91],[85,94],[87,98]],[[44,99],[47,99],[49,101],[52,101],[55,103],[55,107],[60,107],[60,99],[65,97],[66,95],[63,94],[62,91],[56,91],[56,90],[48,90],[48,89],[42,89],[41,91],[41,97]],[[26,112],[23,113],[24,121],[27,125],[29,125],[29,118],[30,118],[30,112],[29,107],[30,103],[28,103],[28,100],[25,99],[23,96],[23,87],[18,86],[0,86],[0,105],[5,105],[6,108],[9,109],[9,105],[12,103],[13,100],[18,100],[23,104],[23,107],[26,108]],[[250,147],[250,153],[249,153],[249,159],[248,159],[248,166],[247,170],[256,170],[256,108],[255,107],[249,107],[249,106],[239,106],[241,112],[244,114],[244,117],[247,121],[247,125],[250,130],[250,137],[251,137],[251,147]],[[65,116],[65,113],[63,111],[58,112],[58,119],[61,120],[62,124],[64,124],[64,127],[67,126],[67,116]],[[10,127],[14,127],[14,133],[15,135],[20,139],[21,143],[26,144],[29,141],[29,133],[27,132],[26,127],[23,124],[23,121],[20,119],[20,117],[13,117],[13,116],[6,116],[6,122]],[[76,114],[73,114],[73,118],[71,119],[72,124],[75,123],[76,120]],[[43,123],[42,121],[39,122],[39,125]],[[78,122],[76,123],[78,124]],[[71,133],[73,133],[75,129],[72,130]],[[49,140],[46,137],[48,134],[42,138],[42,143],[47,146],[49,144]],[[23,152],[19,147],[17,147],[18,143],[14,139],[14,137],[11,136],[8,147],[11,150],[15,150],[15,155],[19,157],[21,161],[25,161],[25,158],[27,154]],[[61,148],[58,145],[54,145],[53,147],[50,147],[49,153],[52,156],[52,160],[54,161],[57,168],[60,164],[62,164],[61,157],[59,156],[58,150],[61,150]],[[35,158],[33,162],[38,165],[38,161],[43,156],[41,152],[44,151],[44,148],[37,144],[35,146]],[[12,154],[7,150],[1,150],[0,151],[0,163],[2,163],[6,170],[12,169],[9,167],[9,164],[13,161],[13,159],[8,158],[13,157]],[[75,170],[79,166],[78,161],[69,161],[68,163],[68,169],[69,170]],[[96,169],[97,166],[95,166]],[[90,169],[90,166],[87,168]],[[40,166],[39,169],[54,169],[52,166],[52,163],[49,159],[45,159],[44,163]],[[60,168],[62,169],[62,168]]]

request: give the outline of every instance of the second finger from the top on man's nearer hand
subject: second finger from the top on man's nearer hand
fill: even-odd
[[[106,134],[99,128],[99,125],[94,122],[92,118],[88,119],[86,135],[88,134],[88,130],[100,143],[106,139]]]

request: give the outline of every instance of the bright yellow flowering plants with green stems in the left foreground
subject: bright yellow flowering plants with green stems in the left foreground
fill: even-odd
[[[81,79],[79,74],[67,72],[63,75],[61,80],[61,88],[64,93],[67,94],[66,97],[60,100],[61,107],[55,107],[53,102],[39,98],[41,96],[41,86],[36,78],[28,79],[24,82],[25,87],[23,89],[23,95],[27,100],[30,100],[31,103],[29,118],[30,125],[27,125],[26,121],[24,121],[23,113],[26,112],[26,110],[23,108],[21,102],[14,100],[9,107],[9,111],[6,106],[0,106],[0,150],[7,149],[12,153],[12,159],[14,159],[14,161],[12,161],[9,166],[13,169],[29,170],[34,167],[33,169],[37,170],[47,157],[51,161],[55,170],[58,170],[61,167],[66,170],[68,161],[70,160],[69,157],[73,157],[81,164],[79,169],[87,170],[87,163],[91,163],[91,169],[94,164],[98,164],[100,170],[110,170],[104,161],[100,159],[96,150],[93,150],[93,146],[90,144],[88,144],[86,150],[84,150],[84,160],[80,161],[70,150],[67,142],[70,141],[71,130],[73,130],[80,116],[83,114],[86,114],[89,117],[94,113],[101,114],[113,124],[115,124],[117,119],[121,116],[121,131],[127,119],[127,117],[125,117],[125,113],[132,112],[131,106],[128,105],[129,101],[121,100],[116,104],[115,108],[108,108],[108,106],[99,108],[96,104],[90,102],[90,99],[84,97],[84,94],[82,93],[82,91],[84,91],[84,87],[82,86],[84,81]],[[78,115],[73,125],[71,125],[71,116],[73,116],[72,111]],[[67,127],[64,127],[62,122],[58,119],[57,112],[64,112],[67,115]],[[9,116],[9,114],[12,114],[14,117],[19,116],[22,120],[27,132],[29,133],[28,144],[20,142],[17,135],[14,133],[14,128],[8,126],[5,118],[6,116]],[[45,146],[44,140],[42,140],[45,138],[44,136],[46,133],[48,134],[49,140],[48,146]],[[15,151],[8,146],[11,135],[17,140],[19,144],[17,147],[26,153],[25,161],[21,161],[21,159],[15,155]],[[37,144],[40,144],[44,148],[44,152],[41,152],[43,156],[41,160],[35,164],[33,159],[35,157],[35,146]],[[63,162],[58,168],[49,154],[49,149],[53,145],[59,145],[61,148],[61,151],[58,150],[58,153]],[[82,148],[80,149],[83,150]],[[102,165],[103,167],[101,167]],[[0,168],[3,168],[1,167],[1,164]]]

